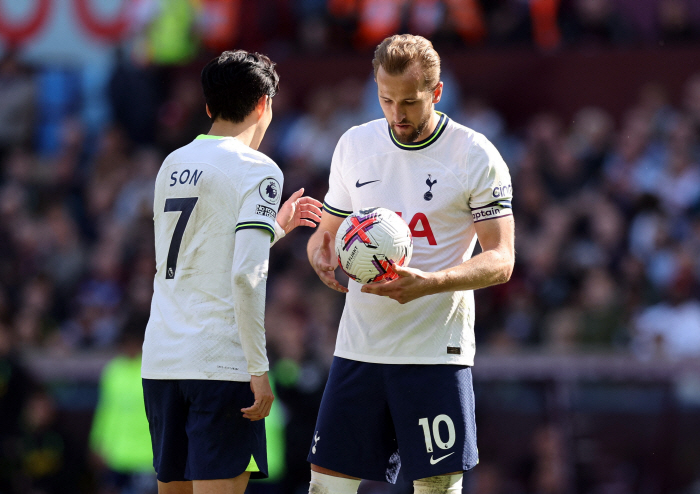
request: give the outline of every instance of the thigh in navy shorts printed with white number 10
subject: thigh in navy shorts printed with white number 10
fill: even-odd
[[[476,465],[471,368],[393,366],[387,369],[387,392],[404,478],[446,475]]]

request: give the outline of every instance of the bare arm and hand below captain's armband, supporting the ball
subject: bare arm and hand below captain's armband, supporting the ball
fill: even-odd
[[[482,252],[452,268],[427,273],[394,266],[399,278],[387,283],[364,285],[362,291],[390,297],[401,304],[425,295],[457,290],[476,290],[505,283],[515,264],[513,216],[474,223]]]

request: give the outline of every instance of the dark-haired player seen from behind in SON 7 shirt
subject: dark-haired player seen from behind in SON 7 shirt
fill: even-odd
[[[300,189],[279,207],[282,172],[257,151],[278,89],[270,59],[226,51],[201,79],[211,130],[156,178],[141,376],[159,493],[243,494],[249,477],[267,476],[271,239],[315,226],[321,203]]]

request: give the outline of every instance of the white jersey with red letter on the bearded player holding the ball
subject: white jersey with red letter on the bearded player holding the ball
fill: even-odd
[[[508,167],[481,134],[440,114],[435,131],[398,142],[385,119],[353,127],[338,142],[324,210],[399,213],[413,234],[410,267],[439,271],[469,259],[474,223],[512,214]],[[474,364],[474,293],[407,304],[362,293],[350,280],[335,355],[386,364]]]

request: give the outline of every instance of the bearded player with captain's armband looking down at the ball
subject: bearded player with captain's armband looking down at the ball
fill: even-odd
[[[316,422],[311,493],[351,494],[360,479],[416,493],[462,491],[476,465],[473,291],[510,278],[511,179],[494,146],[447,115],[440,58],[430,41],[385,39],[373,60],[386,120],[347,131],[331,163],[311,265],[348,292]],[[399,278],[349,291],[331,250],[343,218],[361,208],[396,211],[413,233]],[[476,240],[482,253],[471,257]]]

